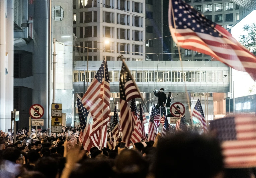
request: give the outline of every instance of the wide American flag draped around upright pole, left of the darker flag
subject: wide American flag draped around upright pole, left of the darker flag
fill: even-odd
[[[105,75],[104,75],[105,71]],[[105,78],[104,78],[105,77]],[[104,79],[103,79],[104,78]],[[104,96],[104,99],[103,99]],[[103,103],[104,100],[104,103]],[[94,116],[94,119],[107,119],[110,113],[110,85],[108,77],[108,68],[106,59],[101,63],[101,66],[94,76],[88,90],[83,96],[82,103],[84,107]],[[103,107],[103,112],[102,112]]]

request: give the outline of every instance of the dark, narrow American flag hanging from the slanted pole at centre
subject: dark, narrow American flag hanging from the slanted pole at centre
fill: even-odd
[[[122,141],[125,142],[126,146],[130,144],[132,133],[135,128],[135,121],[132,117],[132,111],[129,108],[127,102],[133,98],[140,98],[140,91],[136,88],[136,83],[129,74],[129,69],[122,63],[122,69],[120,72],[120,118],[122,127]]]

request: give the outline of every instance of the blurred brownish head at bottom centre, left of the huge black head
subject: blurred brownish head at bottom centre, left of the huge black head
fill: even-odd
[[[140,177],[145,178],[148,174],[149,165],[142,155],[135,150],[123,150],[115,162],[117,177]]]

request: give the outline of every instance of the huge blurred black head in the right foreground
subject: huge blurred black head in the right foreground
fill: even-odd
[[[171,154],[173,150],[175,154]],[[165,171],[170,167],[175,170],[172,172],[173,178],[190,177],[191,173],[197,178],[223,176],[221,147],[216,139],[209,136],[183,133],[163,138],[158,143],[155,160],[156,178],[169,177]],[[198,165],[200,171],[195,171]]]

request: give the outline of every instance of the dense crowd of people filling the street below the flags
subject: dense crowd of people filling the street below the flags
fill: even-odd
[[[209,135],[170,134],[155,141],[124,147],[83,149],[71,146],[69,139],[78,137],[79,128],[64,128],[63,134],[48,135],[46,130],[30,139],[28,129],[19,129],[16,142],[2,133],[0,178],[73,178],[73,177],[196,177],[253,178],[254,168],[225,169],[219,142]],[[6,144],[7,143],[7,144]]]

